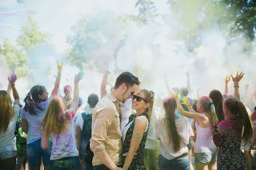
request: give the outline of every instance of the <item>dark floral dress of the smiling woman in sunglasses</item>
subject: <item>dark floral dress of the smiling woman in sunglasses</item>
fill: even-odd
[[[148,118],[148,121],[149,121],[148,112],[143,112],[140,116],[146,116],[146,118]],[[135,114],[131,114],[131,116],[129,117],[129,122],[133,121],[135,117],[136,117]],[[130,128],[126,132],[125,141],[123,142],[123,152],[122,153],[129,152],[131,137],[133,136],[134,125],[135,125],[135,120],[133,121]],[[143,133],[141,143],[139,144],[139,148],[136,151],[136,154],[134,155],[133,160],[131,161],[129,170],[141,170],[141,169],[146,170],[146,167],[143,163],[142,152],[145,148],[148,131],[149,131],[149,128],[146,132]],[[126,156],[123,156],[123,162],[125,162],[125,158],[126,158]]]

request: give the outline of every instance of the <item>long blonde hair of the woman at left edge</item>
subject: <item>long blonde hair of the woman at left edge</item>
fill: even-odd
[[[4,132],[15,114],[12,104],[10,94],[5,90],[0,90],[0,130],[3,129]]]

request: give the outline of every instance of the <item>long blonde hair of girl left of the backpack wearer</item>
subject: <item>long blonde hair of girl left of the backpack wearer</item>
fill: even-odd
[[[61,97],[51,100],[40,125],[46,136],[50,137],[67,129],[66,125],[71,121],[71,114],[65,110],[65,104]]]

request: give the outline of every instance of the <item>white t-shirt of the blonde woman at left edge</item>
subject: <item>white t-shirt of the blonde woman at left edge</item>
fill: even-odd
[[[14,117],[9,122],[8,128],[6,129],[6,131],[3,131],[3,129],[1,129],[0,131],[0,153],[6,151],[17,151],[14,141],[14,131],[21,108],[19,105],[14,105],[13,108],[15,110],[15,113]]]

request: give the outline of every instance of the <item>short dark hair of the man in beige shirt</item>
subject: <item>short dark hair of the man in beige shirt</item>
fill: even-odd
[[[139,85],[141,82],[139,82],[138,77],[134,76],[130,72],[123,72],[117,77],[117,80],[115,81],[114,89],[118,89],[119,86],[122,84],[126,84],[127,86],[131,87],[134,84]]]

